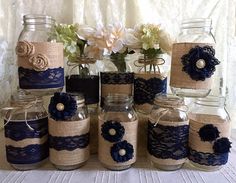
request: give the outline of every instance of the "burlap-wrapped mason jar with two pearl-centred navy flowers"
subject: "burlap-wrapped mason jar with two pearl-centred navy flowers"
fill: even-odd
[[[99,114],[98,158],[104,167],[124,170],[137,156],[138,118],[128,95],[113,94],[105,98]]]

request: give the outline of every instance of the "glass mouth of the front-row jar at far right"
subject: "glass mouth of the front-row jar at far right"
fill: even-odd
[[[223,96],[214,96],[210,95],[205,98],[197,98],[195,101],[196,104],[205,105],[205,106],[225,106],[225,97]]]

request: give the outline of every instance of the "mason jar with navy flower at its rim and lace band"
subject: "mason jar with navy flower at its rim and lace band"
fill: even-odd
[[[56,92],[51,98],[49,159],[60,170],[73,170],[89,159],[90,117],[83,95]]]

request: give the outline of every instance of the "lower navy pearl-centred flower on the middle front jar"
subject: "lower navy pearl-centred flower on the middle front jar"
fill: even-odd
[[[134,148],[126,140],[115,143],[111,147],[111,157],[117,163],[123,163],[134,157]]]

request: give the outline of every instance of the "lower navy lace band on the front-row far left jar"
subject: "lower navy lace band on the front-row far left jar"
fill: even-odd
[[[49,155],[48,142],[26,147],[6,146],[7,161],[11,164],[33,164],[46,159]]]

